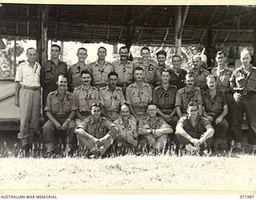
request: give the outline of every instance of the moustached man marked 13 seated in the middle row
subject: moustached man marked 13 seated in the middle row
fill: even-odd
[[[90,115],[90,106],[99,102],[98,89],[90,85],[92,79],[90,72],[88,70],[82,70],[80,78],[82,86],[74,89],[74,102],[77,106],[75,123],[77,126],[83,119]]]

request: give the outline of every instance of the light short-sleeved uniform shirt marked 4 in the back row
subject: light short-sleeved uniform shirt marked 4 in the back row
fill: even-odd
[[[93,77],[92,85],[96,86],[98,89],[108,84],[108,74],[114,70],[110,62],[105,62],[103,66],[100,66],[98,60],[90,63],[88,69]]]

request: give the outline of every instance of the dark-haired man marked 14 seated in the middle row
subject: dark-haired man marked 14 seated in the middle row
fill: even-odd
[[[99,102],[107,120],[114,122],[119,118],[120,107],[126,100],[122,94],[122,88],[117,86],[118,74],[111,71],[108,78],[108,86],[99,89]]]

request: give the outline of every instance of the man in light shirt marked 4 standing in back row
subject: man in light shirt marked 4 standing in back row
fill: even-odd
[[[98,89],[107,85],[107,75],[114,70],[110,62],[106,62],[105,58],[106,48],[101,46],[98,48],[98,60],[89,64],[89,70],[93,76],[92,85]]]

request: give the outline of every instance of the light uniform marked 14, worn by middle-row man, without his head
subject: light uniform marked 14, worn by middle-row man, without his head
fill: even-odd
[[[120,107],[126,102],[125,97],[122,94],[122,88],[116,87],[112,92],[109,86],[105,86],[99,89],[99,102],[106,111],[106,116],[110,122],[119,118]]]

